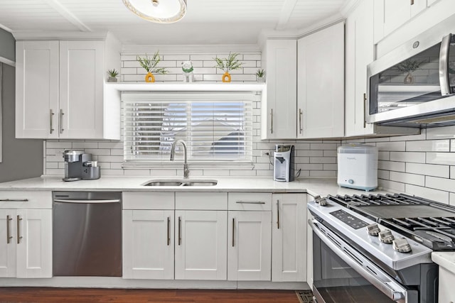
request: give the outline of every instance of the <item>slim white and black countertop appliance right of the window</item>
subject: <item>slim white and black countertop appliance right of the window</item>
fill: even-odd
[[[294,145],[275,145],[273,180],[294,181]]]

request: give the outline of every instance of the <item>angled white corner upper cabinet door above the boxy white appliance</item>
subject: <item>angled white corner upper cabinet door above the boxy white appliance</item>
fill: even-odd
[[[344,135],[344,24],[299,39],[297,138]]]

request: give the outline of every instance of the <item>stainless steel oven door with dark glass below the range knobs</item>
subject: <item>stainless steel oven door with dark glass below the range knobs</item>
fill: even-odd
[[[326,226],[315,219],[309,224],[313,228],[315,302],[417,302],[414,290],[400,285]]]

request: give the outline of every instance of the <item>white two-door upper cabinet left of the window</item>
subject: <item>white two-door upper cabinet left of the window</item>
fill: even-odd
[[[120,138],[119,99],[104,92],[120,62],[110,40],[16,42],[16,138]]]

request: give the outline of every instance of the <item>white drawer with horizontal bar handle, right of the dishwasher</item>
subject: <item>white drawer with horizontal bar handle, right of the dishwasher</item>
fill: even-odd
[[[259,192],[230,192],[228,197],[228,209],[230,211],[271,211],[272,194]]]

